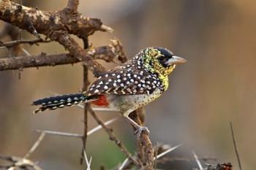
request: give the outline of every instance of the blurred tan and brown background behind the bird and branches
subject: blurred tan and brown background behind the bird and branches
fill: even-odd
[[[23,4],[42,10],[59,10],[67,1],[29,1]],[[200,158],[217,158],[215,163],[231,162],[237,169],[230,134],[232,121],[244,169],[255,169],[256,143],[256,2],[252,0],[130,0],[80,1],[79,11],[100,18],[114,29],[113,34],[97,32],[89,37],[95,47],[110,44],[117,37],[131,58],[148,46],[167,47],[187,63],[170,75],[167,92],[146,107],[146,125],[154,144],[183,144],[162,169],[196,168],[192,150]],[[1,27],[4,23],[1,22]],[[34,39],[22,32],[23,39]],[[77,39],[82,45],[80,39]],[[10,41],[8,37],[1,41]],[[25,45],[31,54],[63,53],[57,43]],[[8,57],[7,50],[0,51]],[[101,62],[107,68],[116,64]],[[23,156],[39,134],[36,128],[83,133],[83,110],[78,107],[32,115],[31,101],[54,93],[76,93],[83,85],[83,69],[74,66],[24,69],[0,72],[0,153]],[[90,81],[94,77],[90,74]],[[118,116],[99,112],[103,120]],[[89,117],[89,128],[97,124]],[[111,125],[118,138],[132,152],[135,136],[130,125],[118,119]],[[83,169],[79,165],[80,139],[46,136],[31,155],[42,169]],[[93,169],[107,169],[124,161],[124,154],[104,131],[89,136],[87,154]],[[173,164],[174,163],[174,164]]]

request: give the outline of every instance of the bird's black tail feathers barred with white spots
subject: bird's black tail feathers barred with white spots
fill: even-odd
[[[34,101],[32,105],[40,105],[38,109],[34,111],[34,114],[43,112],[47,109],[59,109],[62,107],[70,107],[81,102],[89,102],[97,100],[94,96],[84,96],[83,93],[67,94],[62,96],[52,96],[48,98],[42,98]]]

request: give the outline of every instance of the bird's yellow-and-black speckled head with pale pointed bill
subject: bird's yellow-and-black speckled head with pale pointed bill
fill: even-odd
[[[165,77],[173,72],[176,64],[186,62],[184,58],[173,55],[170,50],[163,47],[147,47],[140,54],[146,69]]]

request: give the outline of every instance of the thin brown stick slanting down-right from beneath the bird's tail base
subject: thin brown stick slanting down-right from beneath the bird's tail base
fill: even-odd
[[[104,128],[104,130],[107,132],[108,136],[110,136],[110,140],[112,140],[113,142],[115,142],[117,144],[117,146],[120,148],[120,150],[122,152],[124,152],[125,155],[127,155],[127,157],[129,158],[130,161],[132,161],[132,163],[135,164],[135,166],[140,167],[140,163],[138,163],[138,161],[135,160],[135,158],[132,157],[132,155],[128,152],[127,148],[124,147],[124,144],[121,143],[121,141],[119,141],[116,138],[116,135],[113,134],[113,129],[108,128],[108,126],[106,126],[102,120],[99,119],[99,117],[95,114],[95,112],[91,109],[91,105],[88,106],[88,111],[91,113],[92,117],[94,117],[94,119],[97,121],[97,123],[99,125],[102,125],[102,128]]]

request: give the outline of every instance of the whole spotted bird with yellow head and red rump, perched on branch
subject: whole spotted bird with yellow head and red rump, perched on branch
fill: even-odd
[[[39,106],[34,114],[90,103],[120,112],[134,126],[135,134],[149,133],[146,126],[138,125],[129,114],[159,98],[168,88],[168,75],[177,64],[185,62],[167,48],[146,47],[126,63],[97,77],[86,91],[34,101],[32,105]]]

